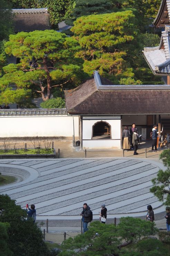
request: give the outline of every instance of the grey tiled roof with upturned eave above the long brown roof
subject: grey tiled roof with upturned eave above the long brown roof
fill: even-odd
[[[143,55],[154,75],[170,74],[170,26],[165,26],[159,47],[145,47]]]

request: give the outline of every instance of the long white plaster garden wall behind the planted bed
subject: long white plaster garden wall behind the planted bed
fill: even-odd
[[[2,116],[0,137],[72,137],[73,116]],[[74,116],[74,132],[78,137],[79,121]]]

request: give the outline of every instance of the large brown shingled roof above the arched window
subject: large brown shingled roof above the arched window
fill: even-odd
[[[97,72],[73,90],[65,91],[68,114],[170,114],[168,85],[111,85]]]

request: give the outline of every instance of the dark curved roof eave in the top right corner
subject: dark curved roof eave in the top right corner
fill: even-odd
[[[154,22],[153,22],[155,26],[159,27],[160,24],[162,24],[161,27],[164,26],[163,16],[165,15],[165,11],[168,12],[167,17],[169,18],[170,17],[170,0],[162,0],[157,17],[154,19]]]

